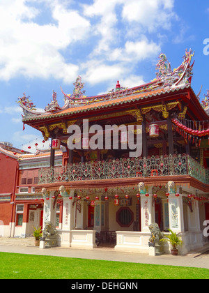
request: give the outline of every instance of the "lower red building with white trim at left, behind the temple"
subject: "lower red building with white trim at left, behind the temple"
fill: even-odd
[[[29,145],[29,150],[31,146]],[[55,153],[55,165],[61,166],[63,151]],[[35,193],[40,168],[50,166],[49,150],[30,153],[0,143],[0,236],[26,237],[34,227],[42,227],[42,194]],[[56,225],[59,227],[60,206],[56,206]]]

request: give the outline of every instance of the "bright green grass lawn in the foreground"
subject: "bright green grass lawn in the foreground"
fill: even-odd
[[[0,253],[0,279],[208,279],[209,270]]]

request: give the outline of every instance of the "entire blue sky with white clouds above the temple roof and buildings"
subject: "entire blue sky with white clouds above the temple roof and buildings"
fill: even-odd
[[[57,92],[72,93],[77,75],[86,96],[155,78],[161,52],[171,68],[192,48],[192,88],[209,89],[209,2],[195,0],[0,0],[0,141],[27,149],[41,133],[22,131],[18,97],[44,109]],[[204,51],[205,47],[205,51]],[[204,54],[205,53],[205,54]]]

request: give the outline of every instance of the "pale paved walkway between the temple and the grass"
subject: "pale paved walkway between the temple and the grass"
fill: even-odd
[[[209,269],[209,255],[201,254],[209,250],[209,244],[203,250],[190,252],[188,255],[160,255],[149,256],[140,253],[125,253],[114,250],[114,248],[45,248],[34,246],[34,238],[25,239],[0,237],[0,251],[6,253],[24,253],[33,255],[52,255],[59,257],[75,257],[91,260],[111,260],[117,262],[136,262],[142,264],[162,264],[173,266],[192,266]]]

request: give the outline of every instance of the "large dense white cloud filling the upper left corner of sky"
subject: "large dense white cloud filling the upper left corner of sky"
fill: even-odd
[[[39,25],[32,21],[38,10],[26,6],[26,2],[7,0],[5,5],[0,3],[3,15],[0,19],[0,79],[24,75],[72,82],[79,67],[66,62],[60,50],[86,38],[88,20],[74,10],[55,6],[52,16],[57,25]]]

